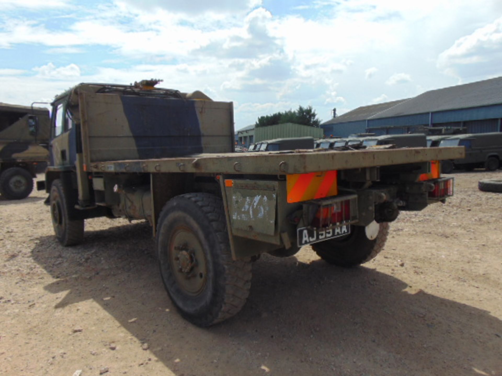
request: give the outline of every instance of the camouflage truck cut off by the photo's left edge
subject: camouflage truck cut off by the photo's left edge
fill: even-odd
[[[33,178],[49,157],[49,110],[0,103],[0,194],[28,197]]]

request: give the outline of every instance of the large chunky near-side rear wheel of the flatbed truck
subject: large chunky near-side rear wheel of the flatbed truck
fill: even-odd
[[[181,315],[198,326],[240,311],[251,286],[250,260],[232,260],[221,199],[171,199],[159,216],[157,255],[164,286]]]

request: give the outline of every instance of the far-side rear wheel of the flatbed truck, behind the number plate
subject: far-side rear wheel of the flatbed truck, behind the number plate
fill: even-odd
[[[352,232],[343,237],[312,244],[324,261],[338,266],[352,267],[368,262],[385,246],[389,223],[373,222],[369,226],[352,226]]]

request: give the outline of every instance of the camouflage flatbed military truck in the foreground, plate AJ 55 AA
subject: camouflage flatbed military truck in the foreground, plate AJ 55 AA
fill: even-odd
[[[453,194],[437,161],[461,147],[234,153],[231,102],[154,83],[56,97],[45,189],[64,246],[83,241],[88,218],[148,221],[165,288],[196,325],[241,309],[262,253],[311,245],[356,266],[382,250],[400,210]]]

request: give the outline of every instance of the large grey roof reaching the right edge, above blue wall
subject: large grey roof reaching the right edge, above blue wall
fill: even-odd
[[[370,119],[490,106],[502,103],[502,77],[427,91]],[[355,110],[354,110],[355,111]],[[341,117],[341,116],[340,116]]]

